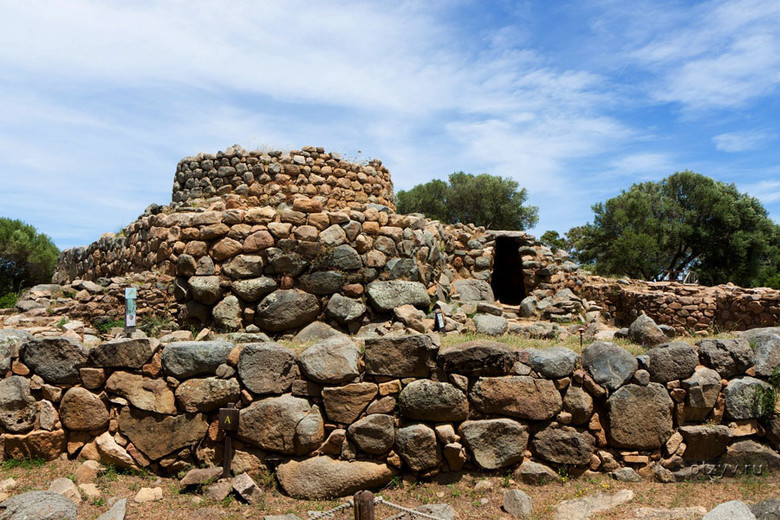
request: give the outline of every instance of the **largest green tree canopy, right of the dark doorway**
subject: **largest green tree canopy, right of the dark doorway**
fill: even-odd
[[[575,257],[599,274],[646,280],[695,269],[701,283],[752,285],[777,228],[756,198],[691,171],[634,184],[593,213],[568,233]]]

